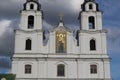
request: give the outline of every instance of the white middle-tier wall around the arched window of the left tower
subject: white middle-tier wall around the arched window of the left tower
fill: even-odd
[[[32,40],[32,49],[25,50],[26,40]],[[41,31],[17,30],[15,36],[15,53],[40,53],[43,46],[43,34]]]

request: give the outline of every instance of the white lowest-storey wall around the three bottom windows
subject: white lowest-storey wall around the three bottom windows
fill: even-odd
[[[24,73],[25,64],[32,65],[32,74]],[[57,76],[57,65],[65,65],[65,77]],[[90,65],[96,64],[97,74],[90,74]],[[13,61],[17,78],[110,78],[109,60],[102,59],[20,59]]]

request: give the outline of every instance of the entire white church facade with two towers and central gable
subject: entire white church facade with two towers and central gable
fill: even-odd
[[[43,45],[41,5],[38,0],[26,1],[20,29],[15,30],[12,73],[16,80],[111,80],[102,12],[95,0],[84,0],[81,8],[77,44],[60,18]]]

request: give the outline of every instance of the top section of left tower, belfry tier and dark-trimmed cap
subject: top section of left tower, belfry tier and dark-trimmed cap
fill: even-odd
[[[38,0],[27,0],[21,11],[21,29],[42,29],[42,10]]]

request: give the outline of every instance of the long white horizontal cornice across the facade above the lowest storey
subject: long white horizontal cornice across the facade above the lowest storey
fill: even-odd
[[[111,59],[107,54],[40,54],[40,53],[16,53],[13,58],[38,58],[38,59]]]

